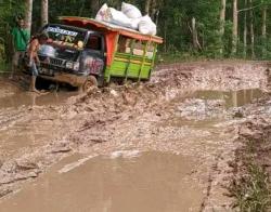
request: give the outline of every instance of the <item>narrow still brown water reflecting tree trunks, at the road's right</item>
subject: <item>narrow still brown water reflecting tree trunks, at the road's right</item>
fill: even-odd
[[[225,102],[225,107],[241,107],[246,104],[257,101],[263,95],[259,89],[238,90],[238,91],[196,91],[193,97],[201,100],[222,100]]]

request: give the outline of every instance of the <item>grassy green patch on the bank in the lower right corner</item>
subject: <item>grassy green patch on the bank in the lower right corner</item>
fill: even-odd
[[[262,159],[257,154],[261,148],[263,147],[259,141],[248,141],[237,153],[242,165],[235,167],[235,171],[238,172],[229,190],[241,212],[271,211],[270,176],[260,164]]]

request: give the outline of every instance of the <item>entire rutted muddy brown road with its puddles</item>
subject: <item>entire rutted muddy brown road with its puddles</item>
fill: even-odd
[[[1,79],[0,211],[233,211],[242,136],[271,125],[269,66],[160,65],[144,84],[42,96]]]

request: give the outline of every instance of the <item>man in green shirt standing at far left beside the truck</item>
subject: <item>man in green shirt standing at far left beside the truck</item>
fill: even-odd
[[[10,78],[13,78],[14,72],[17,69],[18,61],[24,55],[27,44],[30,39],[29,31],[25,28],[24,19],[17,19],[17,26],[12,29],[13,41],[13,58],[12,58],[12,71]]]

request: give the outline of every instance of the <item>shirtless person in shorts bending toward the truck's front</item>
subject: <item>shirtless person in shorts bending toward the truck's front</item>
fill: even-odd
[[[38,51],[39,51],[40,45],[47,43],[48,39],[49,39],[49,36],[46,32],[42,32],[34,37],[30,41],[30,44],[27,51],[27,55],[29,58],[28,67],[30,68],[30,71],[31,71],[31,81],[30,81],[30,87],[29,87],[30,92],[39,93],[39,91],[36,89],[36,80],[39,75],[37,66],[40,66]]]

